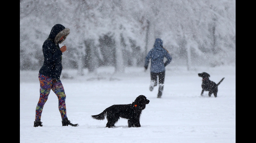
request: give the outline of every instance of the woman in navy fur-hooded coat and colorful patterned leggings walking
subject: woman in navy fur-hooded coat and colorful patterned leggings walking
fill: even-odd
[[[59,111],[62,118],[62,126],[78,126],[72,124],[67,118],[66,114],[66,94],[63,85],[60,81],[62,72],[62,53],[67,50],[66,45],[60,48],[59,44],[62,43],[70,30],[61,24],[56,24],[51,29],[49,37],[44,41],[43,54],[44,64],[39,70],[38,78],[40,81],[40,97],[36,107],[36,119],[34,127],[43,126],[41,122],[41,115],[45,102],[51,90],[56,94],[59,99]]]

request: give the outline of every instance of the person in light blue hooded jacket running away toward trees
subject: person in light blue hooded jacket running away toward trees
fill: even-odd
[[[166,61],[164,62],[164,57]],[[157,77],[158,77],[158,95],[157,98],[161,98],[162,92],[164,90],[164,79],[165,79],[165,66],[167,66],[172,57],[168,51],[163,47],[163,42],[160,38],[156,38],[153,49],[148,52],[148,55],[145,58],[145,70],[148,69],[149,60],[151,59],[150,65],[150,77],[151,82],[149,90],[153,91],[154,87],[157,86]]]

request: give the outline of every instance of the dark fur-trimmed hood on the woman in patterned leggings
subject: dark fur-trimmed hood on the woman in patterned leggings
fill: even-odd
[[[68,28],[65,28],[61,24],[56,24],[51,29],[51,33],[49,35],[49,39],[53,40],[55,44],[61,44],[70,33],[70,30]],[[63,39],[60,41],[60,38],[63,37]]]

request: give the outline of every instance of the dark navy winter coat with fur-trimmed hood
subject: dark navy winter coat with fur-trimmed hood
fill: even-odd
[[[44,64],[39,70],[39,73],[53,79],[60,79],[62,72],[62,52],[59,43],[62,43],[69,33],[70,30],[61,24],[53,26],[48,39],[43,44]],[[64,39],[60,41],[63,35]]]

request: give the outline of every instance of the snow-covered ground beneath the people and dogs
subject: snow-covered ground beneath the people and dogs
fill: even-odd
[[[149,71],[126,68],[113,74],[113,68],[100,68],[97,74],[78,76],[63,70],[61,79],[66,93],[67,117],[78,127],[64,126],[53,91],[46,102],[41,121],[33,127],[39,99],[38,71],[20,71],[20,143],[235,143],[236,142],[236,67],[167,66],[164,92],[156,98],[158,86],[149,91]],[[219,85],[218,97],[201,97],[202,78],[207,72]],[[126,119],[106,128],[107,120],[95,120],[114,104],[130,104],[139,95],[150,100],[142,111],[141,127],[129,128]]]

